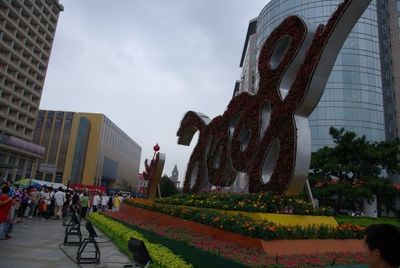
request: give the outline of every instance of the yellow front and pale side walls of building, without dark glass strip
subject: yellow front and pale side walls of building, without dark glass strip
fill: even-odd
[[[62,182],[67,184],[71,178],[81,118],[89,120],[90,128],[80,184],[99,185],[104,159],[108,158],[118,164],[116,178],[110,181],[109,187],[123,189],[128,184],[135,189],[141,147],[106,116],[93,113],[73,114]]]

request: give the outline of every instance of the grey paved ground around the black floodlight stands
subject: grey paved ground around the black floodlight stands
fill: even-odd
[[[107,241],[97,231],[97,242]],[[0,268],[67,268],[80,267],[76,261],[77,246],[64,246],[65,226],[61,220],[28,219],[14,224],[11,239],[0,240]],[[81,223],[83,238],[88,232]],[[63,249],[65,253],[59,248]],[[100,264],[81,264],[81,267],[123,267],[131,263],[112,242],[100,243]],[[72,260],[68,257],[71,257]]]

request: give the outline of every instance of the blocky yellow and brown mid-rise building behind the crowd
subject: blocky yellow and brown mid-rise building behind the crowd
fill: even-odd
[[[137,188],[142,148],[103,114],[39,110],[33,142],[46,148],[36,179]]]

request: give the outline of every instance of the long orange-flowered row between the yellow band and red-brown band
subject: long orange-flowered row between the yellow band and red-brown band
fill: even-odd
[[[284,226],[257,220],[241,214],[224,214],[216,210],[166,205],[144,199],[129,199],[126,204],[158,211],[163,214],[206,224],[226,231],[262,238],[276,239],[361,239],[365,228],[356,225]]]

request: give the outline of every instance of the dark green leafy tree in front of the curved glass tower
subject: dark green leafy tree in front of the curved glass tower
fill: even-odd
[[[384,178],[386,172],[400,172],[400,141],[369,142],[365,136],[331,127],[334,147],[323,147],[312,154],[310,184],[323,205],[355,209],[357,200],[378,198],[387,210],[394,208],[396,189]]]

